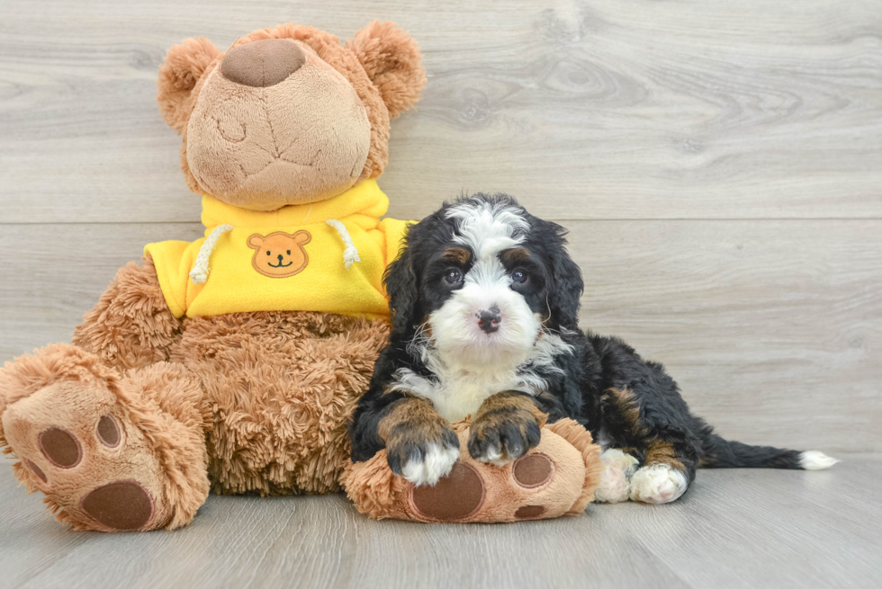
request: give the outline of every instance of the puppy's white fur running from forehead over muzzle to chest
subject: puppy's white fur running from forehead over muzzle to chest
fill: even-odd
[[[402,369],[392,388],[430,399],[448,420],[474,414],[500,390],[534,393],[546,386],[536,373],[545,368],[541,356],[547,347],[536,344],[541,317],[511,289],[499,258],[527,238],[530,225],[523,215],[506,200],[465,201],[446,211],[446,218],[455,221],[455,243],[472,250],[473,264],[462,287],[429,315],[430,335],[418,335],[410,348],[433,376]],[[483,332],[476,319],[478,311],[490,308],[501,316],[492,334]]]

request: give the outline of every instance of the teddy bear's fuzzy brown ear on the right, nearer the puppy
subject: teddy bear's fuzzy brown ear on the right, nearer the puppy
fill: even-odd
[[[397,117],[419,100],[426,86],[426,70],[420,64],[417,41],[394,22],[374,21],[353,39],[347,49],[356,54],[367,76],[380,90],[389,116]]]

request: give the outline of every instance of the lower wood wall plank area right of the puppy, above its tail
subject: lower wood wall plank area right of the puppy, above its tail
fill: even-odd
[[[662,361],[726,437],[880,448],[877,221],[567,225],[581,325]]]

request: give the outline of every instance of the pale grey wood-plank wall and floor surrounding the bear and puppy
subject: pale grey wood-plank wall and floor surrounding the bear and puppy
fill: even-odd
[[[64,530],[0,466],[0,587],[882,585],[878,0],[4,0],[0,361],[69,341],[145,243],[201,235],[154,99],[166,49],[377,18],[428,69],[392,124],[393,216],[517,196],[571,229],[583,326],[664,362],[728,437],[851,458],[703,472],[678,504],[581,520],[212,498],[188,530],[125,537]]]

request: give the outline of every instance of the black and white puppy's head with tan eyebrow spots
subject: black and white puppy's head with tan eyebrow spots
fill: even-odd
[[[393,341],[428,344],[449,368],[517,366],[543,329],[578,326],[583,284],[565,235],[506,195],[445,204],[387,271]]]

